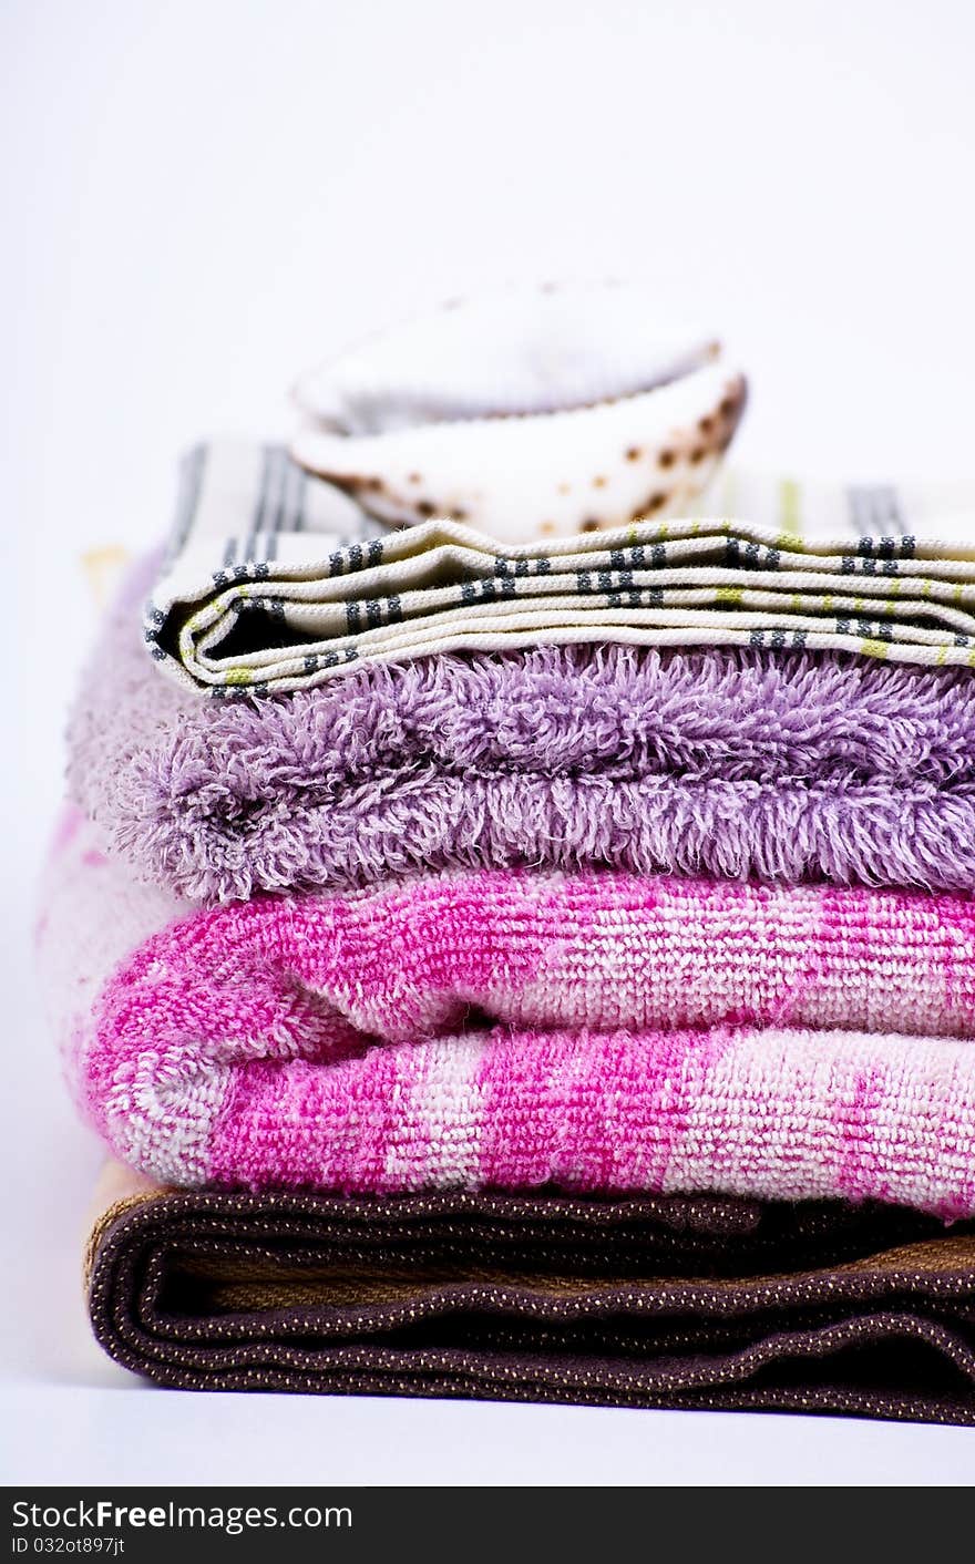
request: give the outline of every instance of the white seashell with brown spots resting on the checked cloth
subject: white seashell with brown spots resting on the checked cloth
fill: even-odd
[[[714,336],[651,319],[618,285],[446,307],[307,375],[293,455],[388,522],[531,540],[685,515],[747,383]]]

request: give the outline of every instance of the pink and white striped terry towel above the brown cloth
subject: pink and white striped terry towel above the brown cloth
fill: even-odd
[[[63,832],[56,1032],[95,1128],[158,1181],[975,1214],[967,899],[480,873],[160,904]]]

